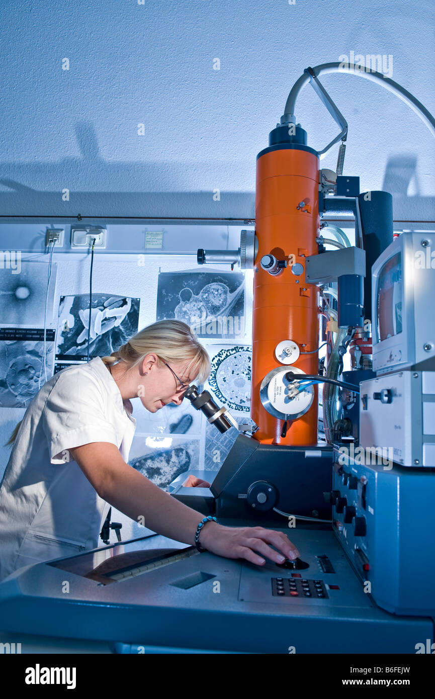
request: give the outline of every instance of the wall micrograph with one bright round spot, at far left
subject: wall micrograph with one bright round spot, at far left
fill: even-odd
[[[3,256],[4,256],[3,252]],[[10,251],[9,264],[0,267],[1,326],[48,326],[53,319],[57,264],[21,260],[20,251]],[[47,309],[45,310],[45,299]],[[45,317],[45,322],[44,322]]]

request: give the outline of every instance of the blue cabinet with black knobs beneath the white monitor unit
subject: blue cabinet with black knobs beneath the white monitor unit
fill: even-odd
[[[376,456],[334,445],[334,485],[325,493],[334,532],[376,604],[394,614],[434,615],[435,556],[421,538],[435,527],[434,474],[382,459],[367,463]]]

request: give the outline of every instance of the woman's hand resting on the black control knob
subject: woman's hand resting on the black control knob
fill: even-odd
[[[294,560],[301,555],[283,532],[264,529],[262,526],[222,526],[215,521],[210,521],[204,526],[199,535],[199,545],[217,556],[246,559],[257,565],[266,563],[262,556],[273,563],[283,563],[285,559]],[[280,553],[270,545],[275,546]]]

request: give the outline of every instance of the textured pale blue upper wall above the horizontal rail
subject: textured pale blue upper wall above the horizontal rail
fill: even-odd
[[[5,0],[0,31],[1,214],[252,217],[255,156],[294,81],[350,51],[392,55],[435,112],[433,0]],[[349,123],[345,173],[392,192],[396,219],[434,219],[417,115],[368,80],[322,80]],[[309,86],[297,118],[319,150],[336,134]]]

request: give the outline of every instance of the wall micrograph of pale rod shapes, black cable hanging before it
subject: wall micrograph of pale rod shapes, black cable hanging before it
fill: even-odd
[[[138,331],[139,298],[92,294],[61,296],[57,326],[56,359],[87,360],[112,354]],[[89,328],[90,323],[90,328]]]

